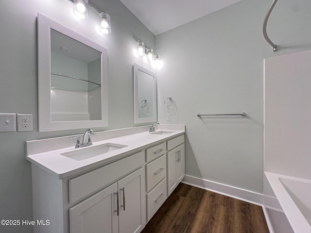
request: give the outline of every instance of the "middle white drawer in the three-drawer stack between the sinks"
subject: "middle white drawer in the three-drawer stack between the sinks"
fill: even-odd
[[[147,192],[166,177],[166,154],[146,165]]]

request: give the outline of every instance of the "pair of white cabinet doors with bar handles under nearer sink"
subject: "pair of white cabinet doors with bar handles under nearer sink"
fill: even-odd
[[[135,233],[144,227],[140,168],[69,209],[70,233]]]

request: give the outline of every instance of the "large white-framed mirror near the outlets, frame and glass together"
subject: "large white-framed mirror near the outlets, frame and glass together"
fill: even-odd
[[[38,14],[39,132],[107,126],[107,50]]]

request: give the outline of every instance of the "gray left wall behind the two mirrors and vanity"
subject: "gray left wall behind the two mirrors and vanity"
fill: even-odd
[[[111,34],[95,30],[98,15],[86,20],[72,15],[68,0],[2,1],[0,6],[0,113],[32,113],[34,131],[0,133],[0,219],[32,220],[31,166],[25,160],[25,142],[72,135],[83,130],[38,133],[37,115],[37,12],[103,45],[108,50],[108,127],[134,126],[134,38],[155,48],[155,36],[118,0],[93,0],[111,17]],[[143,65],[143,64],[140,64]],[[0,226],[0,232],[31,233],[32,227]]]

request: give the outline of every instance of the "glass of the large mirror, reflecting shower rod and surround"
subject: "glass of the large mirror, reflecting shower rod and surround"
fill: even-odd
[[[101,105],[101,52],[51,29],[51,120],[100,120]]]

